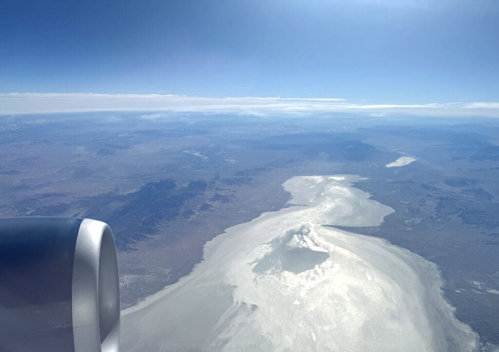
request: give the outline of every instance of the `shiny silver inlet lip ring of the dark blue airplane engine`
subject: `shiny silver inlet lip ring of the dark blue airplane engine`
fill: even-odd
[[[118,352],[120,304],[113,235],[101,221],[83,219],[74,252],[72,323],[75,352]]]

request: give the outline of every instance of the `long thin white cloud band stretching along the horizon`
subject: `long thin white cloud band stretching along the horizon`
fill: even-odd
[[[0,115],[86,111],[169,111],[254,115],[356,113],[376,116],[499,117],[499,102],[362,104],[339,98],[205,98],[161,94],[94,93],[0,94]]]

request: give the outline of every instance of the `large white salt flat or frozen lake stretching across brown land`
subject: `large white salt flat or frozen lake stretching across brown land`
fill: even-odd
[[[360,179],[284,182],[292,206],[227,229],[190,275],[123,311],[124,351],[475,349],[435,264],[325,226],[377,226],[394,211],[352,187]]]

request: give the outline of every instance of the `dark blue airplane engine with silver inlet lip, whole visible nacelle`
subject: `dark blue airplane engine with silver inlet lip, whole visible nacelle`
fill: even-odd
[[[111,229],[64,217],[0,219],[0,351],[117,352]]]

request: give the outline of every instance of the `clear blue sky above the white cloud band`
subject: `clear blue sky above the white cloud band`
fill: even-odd
[[[499,101],[496,0],[0,2],[0,93]]]

